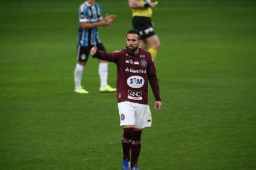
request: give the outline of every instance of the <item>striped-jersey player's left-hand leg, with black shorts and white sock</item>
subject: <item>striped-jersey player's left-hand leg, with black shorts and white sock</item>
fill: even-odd
[[[78,46],[78,62],[74,69],[74,92],[80,94],[88,94],[88,91],[83,89],[81,81],[83,78],[83,71],[88,60],[88,54],[86,54],[86,47]]]

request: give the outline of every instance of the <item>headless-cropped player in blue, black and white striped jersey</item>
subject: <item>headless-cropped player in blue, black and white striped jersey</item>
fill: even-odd
[[[100,50],[105,51],[99,33],[98,26],[109,26],[115,20],[115,15],[102,17],[102,10],[96,0],[86,0],[79,6],[79,31],[78,31],[78,55],[77,64],[74,69],[74,92],[80,94],[88,94],[81,86],[84,66],[88,60],[91,47],[96,45]],[[99,60],[98,73],[100,75],[100,92],[115,92],[107,83],[108,63],[105,60]]]

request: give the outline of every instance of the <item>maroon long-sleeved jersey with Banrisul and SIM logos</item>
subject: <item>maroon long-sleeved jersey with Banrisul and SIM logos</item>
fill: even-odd
[[[139,48],[138,54],[128,50],[106,53],[96,51],[95,57],[117,64],[117,100],[148,105],[148,81],[154,98],[161,101],[156,68],[151,54]]]

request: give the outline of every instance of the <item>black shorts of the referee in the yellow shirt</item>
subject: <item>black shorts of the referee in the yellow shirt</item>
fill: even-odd
[[[151,18],[145,16],[134,16],[132,18],[132,26],[134,29],[139,30],[141,34],[141,40],[145,40],[148,37],[155,35],[152,26]]]

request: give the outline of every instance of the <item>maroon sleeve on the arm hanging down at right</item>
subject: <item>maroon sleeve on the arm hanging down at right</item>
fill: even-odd
[[[150,55],[150,57],[151,57],[151,55]],[[148,72],[148,81],[149,81],[149,84],[153,91],[154,98],[156,101],[161,101],[160,88],[159,88],[159,84],[158,84],[158,78],[156,76],[156,67],[154,66],[154,60],[152,57],[151,57],[151,59],[149,59],[149,65],[148,65],[147,72]]]

